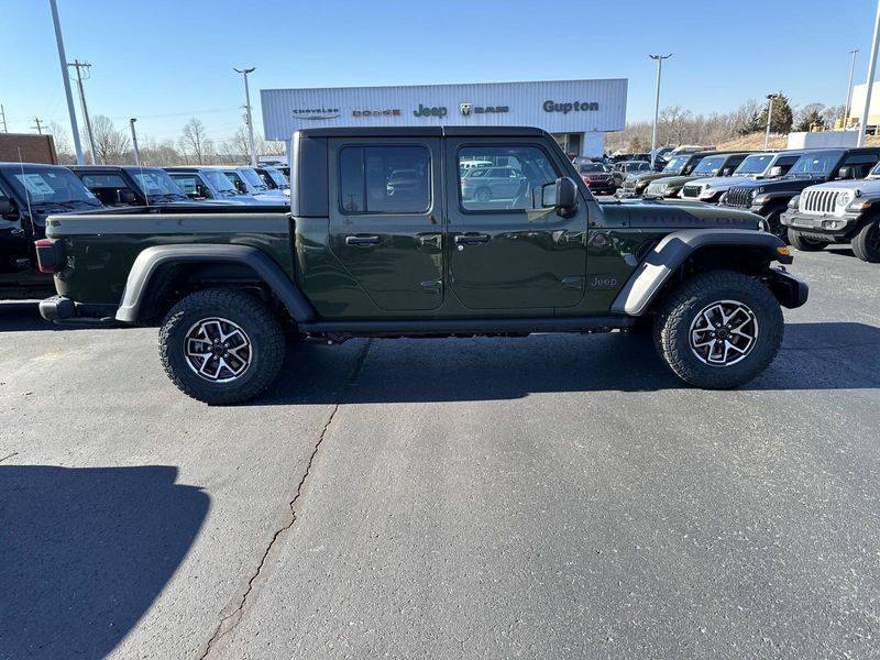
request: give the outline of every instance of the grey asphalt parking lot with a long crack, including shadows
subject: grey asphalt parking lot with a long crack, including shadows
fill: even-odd
[[[620,334],[297,345],[253,405],[0,304],[0,659],[880,657],[880,266],[736,392]]]

